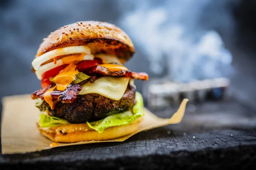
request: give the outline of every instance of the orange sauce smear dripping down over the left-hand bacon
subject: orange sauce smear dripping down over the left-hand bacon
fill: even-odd
[[[64,91],[68,85],[71,84],[76,79],[76,74],[79,71],[76,70],[76,65],[70,63],[66,68],[64,68],[57,76],[53,78],[53,82],[56,83],[54,88],[49,89],[44,94],[44,100],[50,105],[51,109],[57,104],[57,101],[52,100],[52,91],[56,88],[58,91]]]

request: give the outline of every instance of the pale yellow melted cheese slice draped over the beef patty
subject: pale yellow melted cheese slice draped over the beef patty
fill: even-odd
[[[125,93],[129,80],[128,77],[100,77],[93,83],[85,83],[79,95],[96,93],[109,99],[120,100]]]

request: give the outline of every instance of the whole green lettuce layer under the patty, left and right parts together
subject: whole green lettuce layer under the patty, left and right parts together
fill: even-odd
[[[136,92],[135,94],[136,104],[132,108],[133,113],[131,111],[126,111],[123,113],[117,113],[111,116],[108,116],[104,119],[95,121],[95,122],[86,122],[87,125],[97,130],[99,133],[102,133],[106,128],[112,127],[112,126],[123,126],[128,125],[132,122],[134,122],[135,119],[144,116],[144,104],[143,104],[143,96]],[[67,122],[65,119],[60,119],[55,116],[48,117],[45,114],[41,114],[40,117],[40,127],[54,127],[58,125],[68,125],[71,124],[70,122]]]

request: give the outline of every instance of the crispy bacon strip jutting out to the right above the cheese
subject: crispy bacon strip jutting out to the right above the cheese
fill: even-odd
[[[125,70],[121,70],[121,71],[115,71],[115,72],[111,72],[109,71],[107,68],[96,65],[93,66],[88,72],[87,74],[89,75],[99,75],[99,76],[113,76],[113,77],[130,77],[132,79],[140,79],[140,80],[148,80],[148,74],[144,73],[144,72],[131,72],[131,71],[125,71]]]

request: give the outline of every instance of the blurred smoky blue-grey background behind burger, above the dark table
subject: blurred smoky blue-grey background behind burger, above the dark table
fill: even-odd
[[[50,32],[99,20],[134,42],[126,66],[149,74],[135,84],[152,109],[183,97],[222,99],[227,87],[254,107],[255,8],[254,0],[1,0],[0,98],[41,88],[31,62]]]

